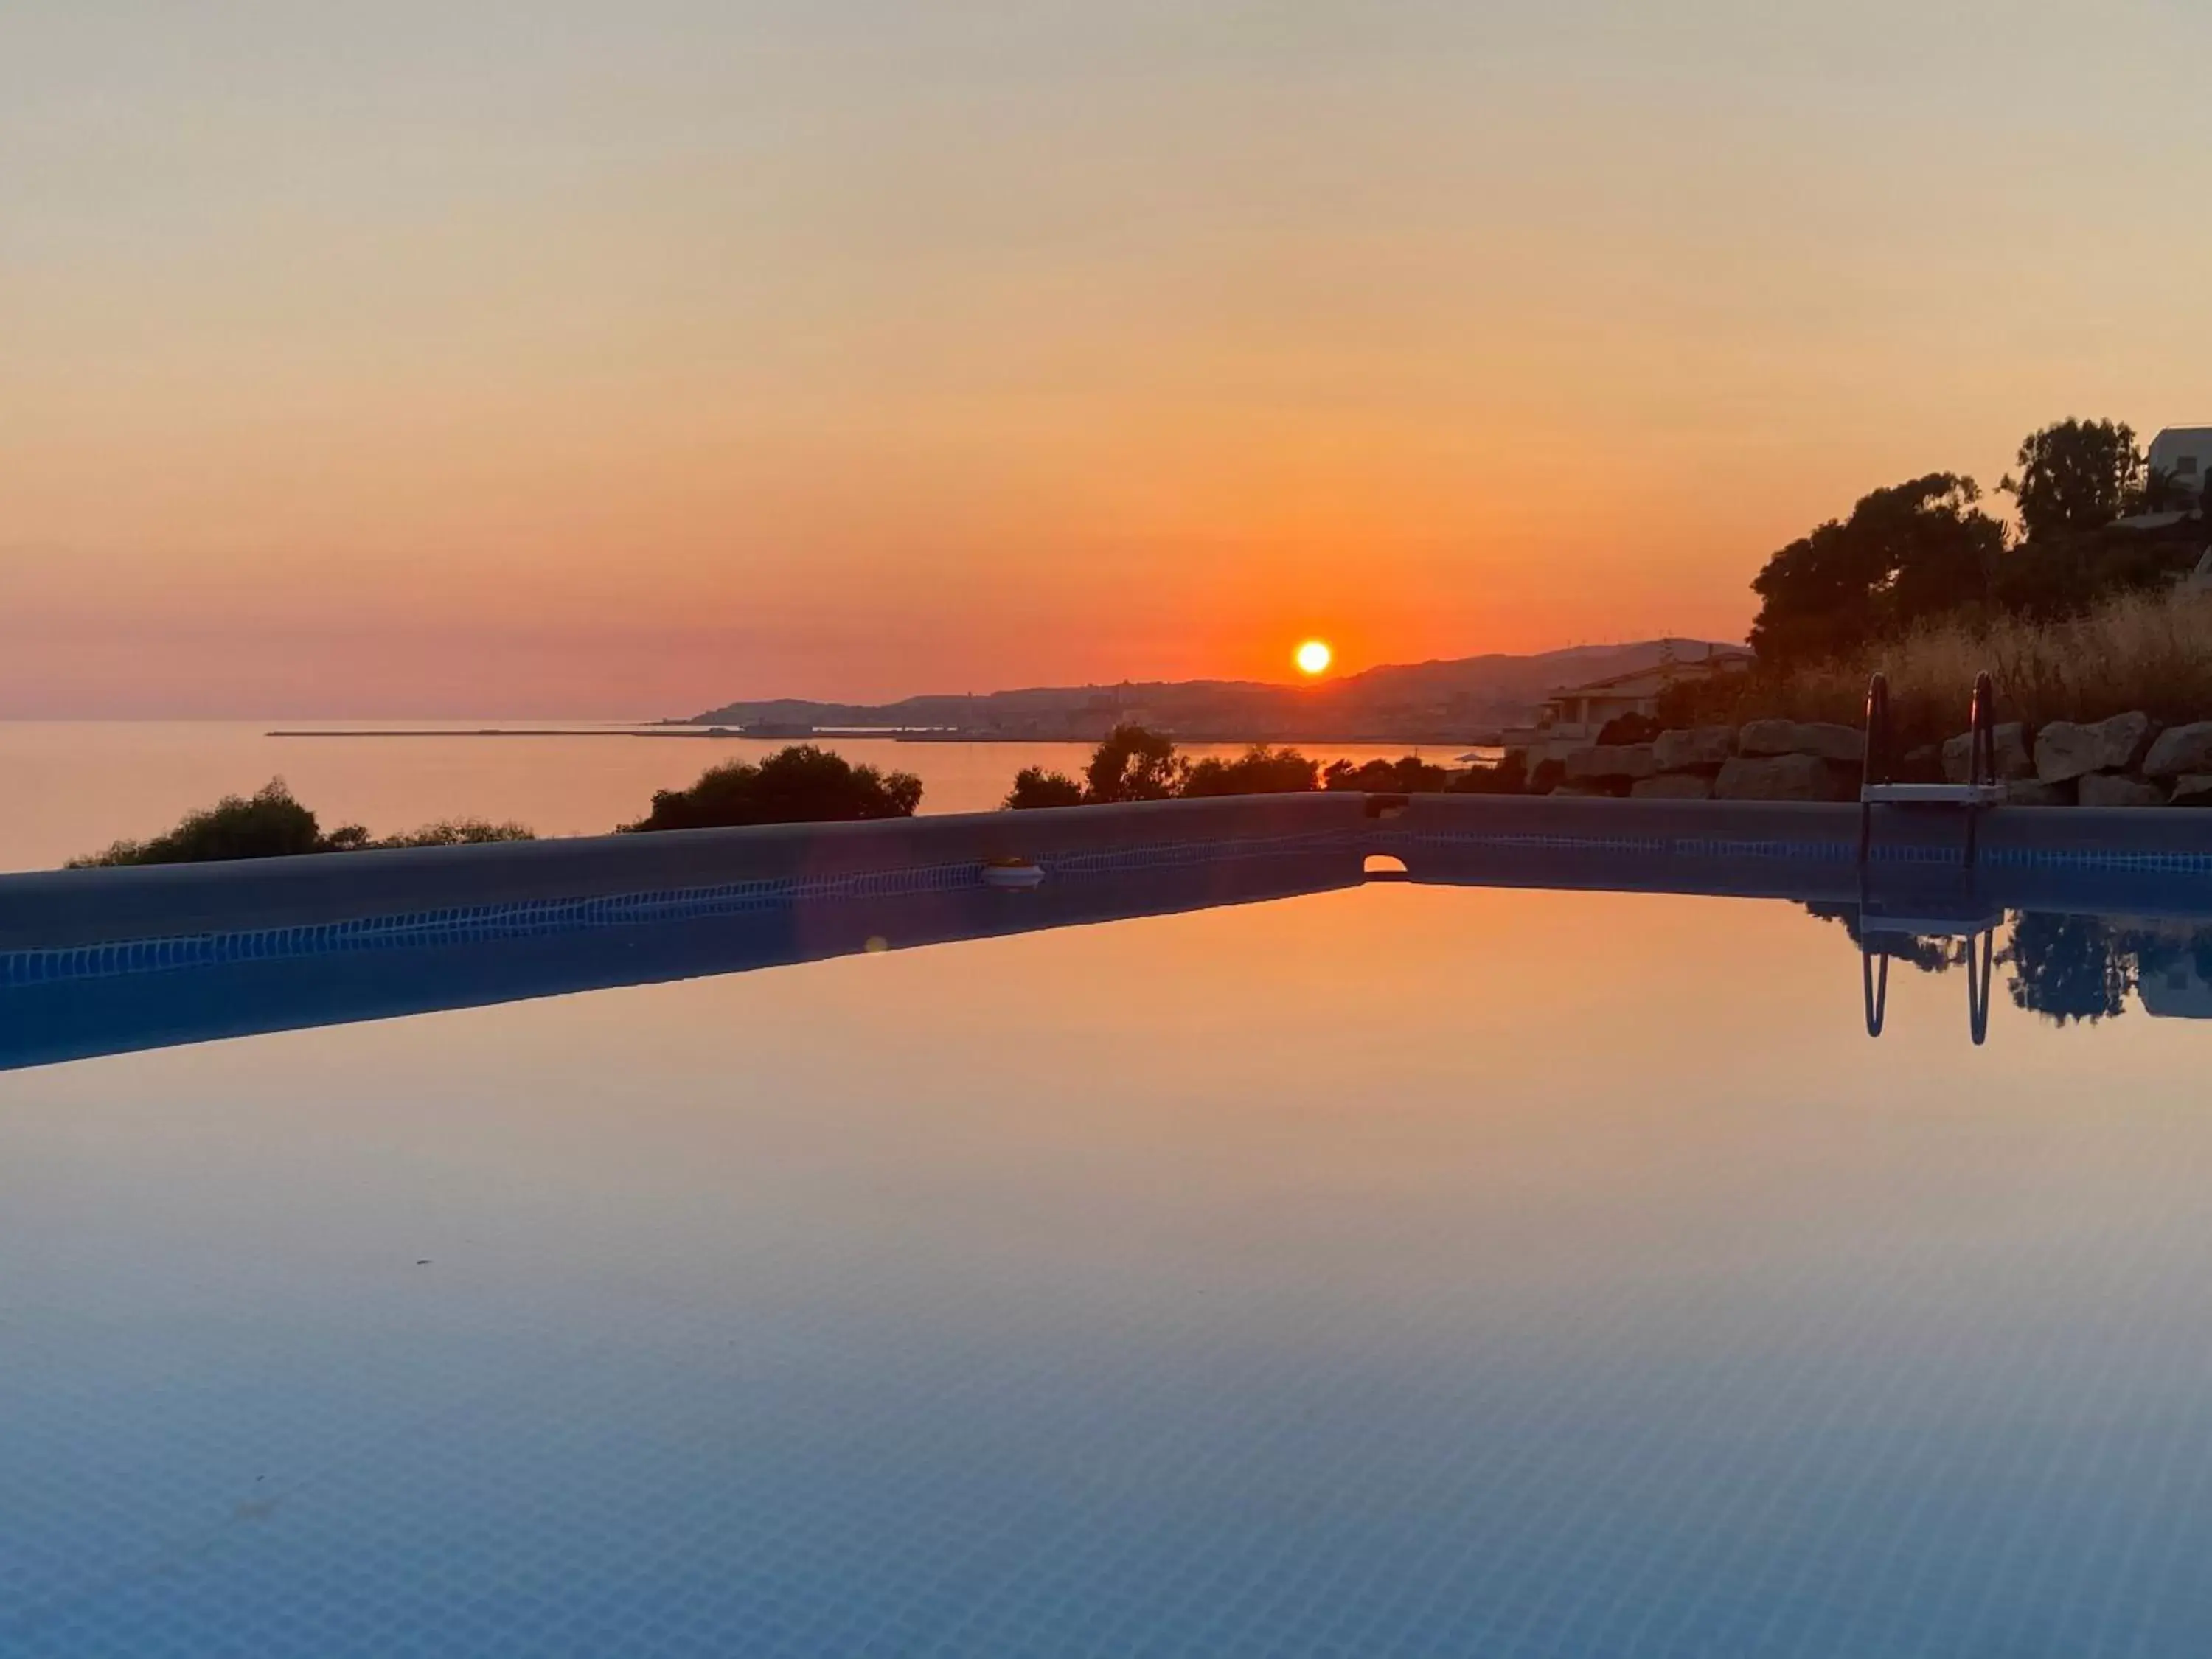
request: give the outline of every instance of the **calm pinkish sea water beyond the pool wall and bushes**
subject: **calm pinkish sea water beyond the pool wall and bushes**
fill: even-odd
[[[365,823],[392,834],[436,818],[513,818],[546,836],[595,836],[641,818],[655,790],[684,787],[708,765],[783,748],[783,741],[664,737],[281,739],[270,737],[272,726],[279,723],[0,721],[0,869],[51,869],[111,841],[157,834],[192,807],[252,794],[272,776],[285,779],[325,827]],[[484,726],[515,730],[529,721],[449,723],[453,732]],[[821,741],[852,761],[918,774],[922,812],[987,812],[1024,765],[1075,772],[1091,754],[1086,743]],[[1225,752],[1234,750],[1192,748],[1192,754]],[[1405,748],[1310,752],[1367,761],[1396,759]],[[1429,759],[1438,754],[1449,759],[1449,752]]]

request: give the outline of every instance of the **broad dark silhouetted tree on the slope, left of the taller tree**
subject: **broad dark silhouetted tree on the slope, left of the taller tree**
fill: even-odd
[[[1980,599],[2004,526],[1960,473],[1929,473],[1863,498],[1851,518],[1798,538],[1752,580],[1761,661],[1834,657],[1938,611]]]

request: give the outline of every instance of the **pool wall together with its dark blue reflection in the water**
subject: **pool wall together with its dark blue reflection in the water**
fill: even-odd
[[[0,1068],[254,1031],[1427,885],[2212,918],[2212,814],[1245,796],[0,878]],[[1031,858],[1035,891],[995,891]],[[1907,927],[1909,931],[1909,927]]]

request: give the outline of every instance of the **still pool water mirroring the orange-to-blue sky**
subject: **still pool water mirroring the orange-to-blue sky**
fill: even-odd
[[[2205,1652],[2212,962],[2037,927],[1984,1048],[1374,887],[0,1075],[0,1652]]]

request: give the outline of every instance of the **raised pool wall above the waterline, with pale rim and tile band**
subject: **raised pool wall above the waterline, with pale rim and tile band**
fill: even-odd
[[[1960,812],[1878,807],[1871,827],[1863,867],[1856,805],[1296,794],[64,869],[0,876],[0,984],[44,978],[51,953],[91,947],[137,947],[142,964],[170,967],[184,964],[166,958],[186,940],[192,956],[208,940],[294,929],[445,942],[453,929],[595,929],[960,891],[993,858],[1031,858],[1064,885],[1250,858],[1343,858],[1356,872],[1367,854],[1391,854],[1413,880],[1770,898],[1955,880],[1966,863]],[[2000,807],[1980,816],[1973,872],[2013,905],[2066,896],[2205,914],[2212,812]]]

